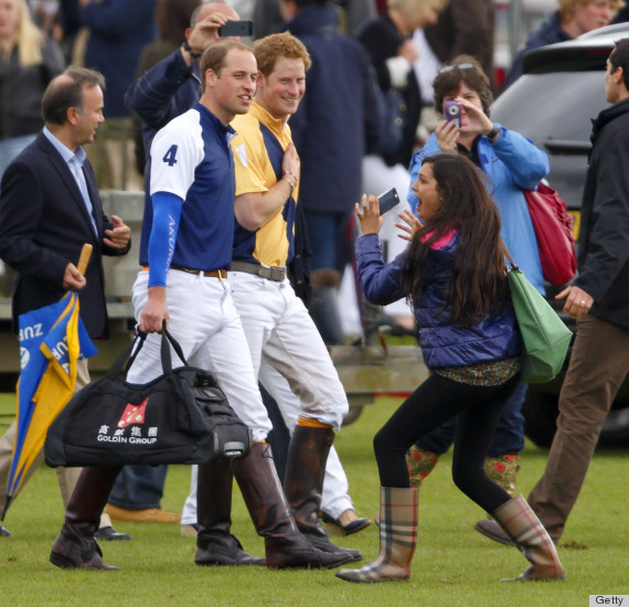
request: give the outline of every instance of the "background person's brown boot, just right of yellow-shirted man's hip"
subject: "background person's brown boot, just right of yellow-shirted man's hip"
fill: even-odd
[[[341,274],[332,268],[310,271],[312,298],[308,311],[326,345],[338,345],[345,341],[339,310],[341,278]]]

